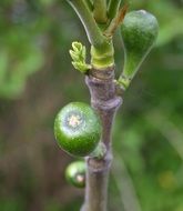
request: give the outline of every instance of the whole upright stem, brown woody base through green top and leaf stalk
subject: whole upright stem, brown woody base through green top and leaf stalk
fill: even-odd
[[[93,69],[87,76],[85,82],[91,94],[91,105],[102,121],[101,141],[106,148],[103,158],[87,158],[85,201],[81,211],[106,211],[108,179],[112,162],[111,131],[115,112],[121,104],[121,98],[115,93],[112,38],[104,36],[98,26],[108,21],[106,0],[93,0],[93,13],[84,0],[68,0],[68,2],[80,17],[92,46]]]

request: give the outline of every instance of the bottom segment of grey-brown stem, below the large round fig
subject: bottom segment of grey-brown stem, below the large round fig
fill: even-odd
[[[87,158],[85,202],[81,211],[106,211],[111,161],[110,154],[102,160]]]

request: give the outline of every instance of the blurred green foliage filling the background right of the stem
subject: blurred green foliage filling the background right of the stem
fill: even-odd
[[[115,123],[114,160],[119,162],[113,164],[116,183],[113,191],[119,198],[113,208],[121,202],[126,210],[181,211],[183,4],[181,1],[134,1],[133,6],[156,14],[160,34],[156,48],[125,93]]]

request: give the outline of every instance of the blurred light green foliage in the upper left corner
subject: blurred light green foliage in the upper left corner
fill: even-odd
[[[0,96],[18,97],[43,66],[38,12],[23,1],[0,3]],[[39,29],[39,30],[38,30]]]

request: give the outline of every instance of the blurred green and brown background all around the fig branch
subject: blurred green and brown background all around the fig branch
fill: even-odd
[[[132,0],[157,17],[155,48],[124,96],[113,129],[111,211],[183,211],[183,1]],[[73,159],[53,138],[71,101],[89,102],[69,49],[85,32],[64,0],[0,1],[0,211],[79,211],[65,182]],[[123,66],[115,36],[116,74]]]

